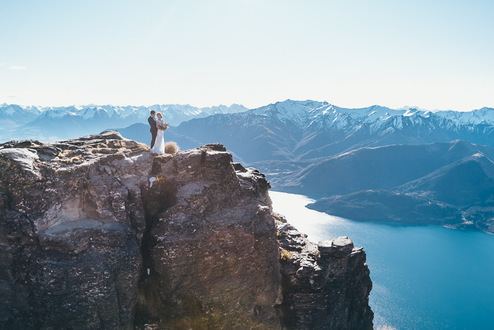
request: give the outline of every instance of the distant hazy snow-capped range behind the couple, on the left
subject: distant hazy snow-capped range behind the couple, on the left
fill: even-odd
[[[0,105],[0,141],[53,141],[99,133],[103,129],[147,123],[151,110],[161,112],[169,124],[178,125],[193,118],[241,112],[247,108],[238,104],[198,108],[188,104],[24,107],[4,103]]]

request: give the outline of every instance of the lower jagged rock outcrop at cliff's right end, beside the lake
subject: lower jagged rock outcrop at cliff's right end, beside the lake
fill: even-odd
[[[278,218],[284,221],[283,216]],[[283,304],[279,308],[286,328],[372,329],[372,282],[363,248],[354,248],[346,236],[314,244],[281,221]]]

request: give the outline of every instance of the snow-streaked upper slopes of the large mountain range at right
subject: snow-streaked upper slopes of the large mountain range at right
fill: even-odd
[[[361,130],[369,133],[390,132],[393,130],[414,130],[418,136],[430,132],[448,130],[458,136],[466,131],[479,131],[472,124],[494,125],[494,109],[483,108],[470,113],[438,112],[433,113],[416,107],[406,109],[390,109],[378,105],[367,108],[348,109],[327,102],[286,100],[266,105],[257,109],[239,113],[231,118],[234,122],[243,122],[237,129],[245,129],[246,122],[251,125],[256,122],[247,121],[245,117],[256,116],[257,124],[281,123],[294,125],[310,134],[315,131],[342,131],[352,134]],[[436,134],[435,133],[435,134]]]

